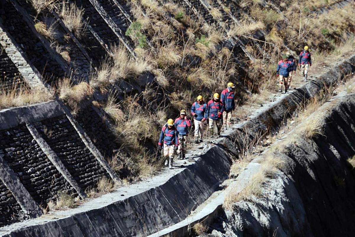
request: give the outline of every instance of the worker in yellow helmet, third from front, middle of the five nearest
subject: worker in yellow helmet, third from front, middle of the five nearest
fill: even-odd
[[[206,121],[208,115],[207,104],[203,102],[202,96],[197,96],[195,103],[191,106],[191,115],[194,117],[193,123],[195,124],[195,143],[198,143],[198,137],[202,142],[203,137],[203,122]]]

